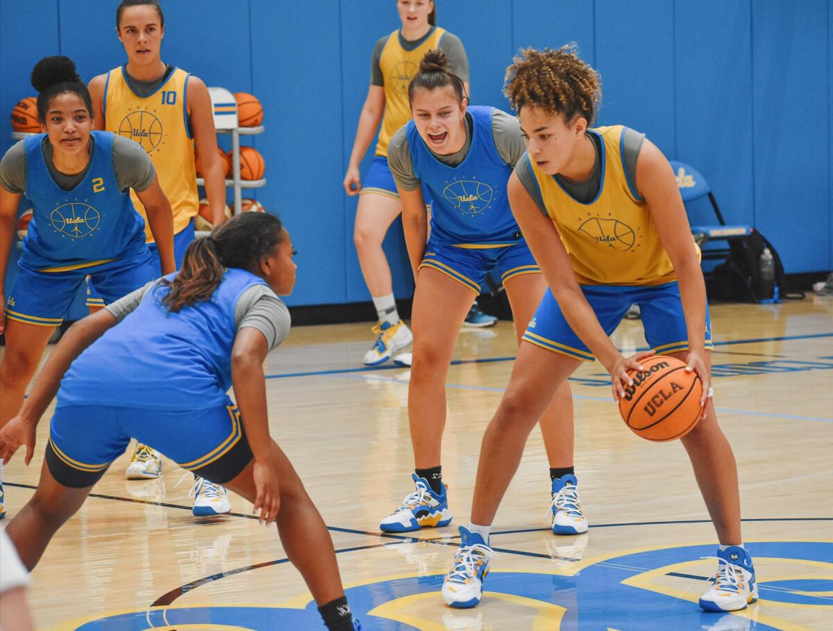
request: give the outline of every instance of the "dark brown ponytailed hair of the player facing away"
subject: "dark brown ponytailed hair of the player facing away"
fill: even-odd
[[[258,274],[262,258],[274,253],[283,238],[283,224],[274,215],[240,213],[188,246],[176,277],[162,278],[159,283],[170,288],[162,304],[177,312],[209,300],[226,268]]]

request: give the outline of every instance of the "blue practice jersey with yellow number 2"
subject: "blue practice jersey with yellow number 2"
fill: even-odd
[[[60,188],[49,174],[41,148],[45,135],[26,138],[26,197],[32,202],[32,221],[21,262],[32,269],[58,272],[141,253],[144,220],[133,209],[129,189],[118,188],[112,133],[92,132],[87,174],[70,191]]]

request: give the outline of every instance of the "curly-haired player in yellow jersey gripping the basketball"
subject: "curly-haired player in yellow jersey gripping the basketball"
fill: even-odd
[[[490,524],[556,389],[581,361],[599,358],[618,400],[632,384],[626,371],[640,370],[641,359],[657,352],[686,362],[703,385],[703,417],[682,438],[721,543],[714,583],[700,605],[746,608],[757,598],[755,569],[741,540],[735,457],[710,396],[711,327],[700,253],[674,173],[642,134],[621,125],[589,128],[601,84],[575,49],[526,49],[506,78],[528,149],[509,180],[509,201],[549,289],[486,429],[471,524],[461,528],[442,596],[454,607],[480,602],[492,556]],[[608,335],[632,303],[641,307],[653,351],[626,358]]]

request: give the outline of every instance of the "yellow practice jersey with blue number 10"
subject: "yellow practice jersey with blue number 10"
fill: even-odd
[[[194,140],[188,129],[187,89],[190,75],[175,68],[165,83],[147,97],[139,97],[124,78],[124,68],[107,73],[104,87],[104,128],[142,145],[156,168],[162,191],[171,202],[173,233],[181,232],[199,211]],[[133,205],[145,218],[145,235],[153,237],[147,215],[136,193]]]

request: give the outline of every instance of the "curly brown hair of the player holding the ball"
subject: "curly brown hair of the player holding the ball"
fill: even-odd
[[[526,48],[506,68],[503,93],[515,111],[535,106],[592,125],[601,105],[601,76],[579,58],[575,43],[558,50]]]

